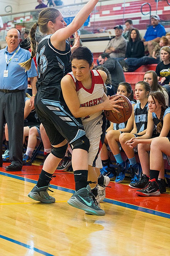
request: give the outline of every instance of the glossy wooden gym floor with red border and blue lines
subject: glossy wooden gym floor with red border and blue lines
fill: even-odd
[[[41,167],[19,172],[0,167],[0,256],[143,256],[170,255],[170,188],[160,197],[138,197],[113,181],[106,188],[102,217],[68,205],[74,192],[72,172],[55,172],[56,198],[43,204],[27,197]]]

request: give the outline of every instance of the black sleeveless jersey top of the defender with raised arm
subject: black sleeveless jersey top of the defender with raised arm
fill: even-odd
[[[71,49],[66,40],[66,50],[60,51],[52,46],[51,35],[44,37],[38,44],[36,62],[38,68],[37,87],[60,85],[61,79],[70,65]]]

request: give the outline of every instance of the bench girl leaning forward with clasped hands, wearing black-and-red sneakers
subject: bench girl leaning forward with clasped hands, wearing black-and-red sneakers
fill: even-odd
[[[148,108],[146,133],[141,137],[131,138],[125,143],[131,148],[138,145],[138,155],[143,174],[140,181],[129,185],[132,188],[142,188],[142,190],[137,190],[138,196],[157,196],[166,192],[164,165],[162,165],[160,172],[150,170],[148,151],[150,151],[153,138],[170,137],[170,108],[165,105],[165,98],[161,92],[150,92]],[[156,179],[156,182],[152,180],[153,178]]]

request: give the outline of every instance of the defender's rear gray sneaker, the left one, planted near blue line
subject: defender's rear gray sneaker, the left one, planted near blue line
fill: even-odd
[[[47,190],[49,190],[49,186],[50,186],[50,183],[48,186],[45,186],[45,187],[40,187],[40,188],[38,188],[37,186],[33,187],[32,191],[29,192],[28,197],[36,201],[40,201],[42,203],[55,203],[56,199],[50,196],[47,192]]]

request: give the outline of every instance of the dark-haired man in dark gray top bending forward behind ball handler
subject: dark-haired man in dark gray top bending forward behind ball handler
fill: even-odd
[[[112,78],[112,86],[116,92],[118,84],[120,82],[125,82],[123,69],[118,60],[110,58],[108,53],[102,53],[98,56],[98,63],[109,70]]]

